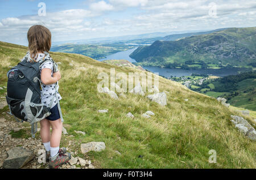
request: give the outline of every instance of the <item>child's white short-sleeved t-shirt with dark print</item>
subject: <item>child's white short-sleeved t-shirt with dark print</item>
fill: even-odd
[[[43,53],[38,53],[38,57],[36,57],[36,61],[38,62],[40,59],[44,58]],[[29,57],[30,54],[28,53],[27,56]],[[41,72],[43,68],[49,68],[50,70],[52,70],[51,75],[53,75],[53,63],[51,61],[48,61],[46,63],[43,63],[43,65],[40,67],[40,76],[41,76]],[[57,100],[56,97],[53,96],[55,94],[55,85],[57,85],[56,87],[56,94],[57,94]],[[43,84],[42,83],[42,90],[40,91],[41,94],[41,103],[43,103],[45,106],[49,107],[49,104],[51,103],[52,98],[55,98],[55,100],[52,103],[51,108],[53,108],[56,104],[57,101],[61,100],[61,96],[59,91],[59,83],[54,83],[54,84]]]

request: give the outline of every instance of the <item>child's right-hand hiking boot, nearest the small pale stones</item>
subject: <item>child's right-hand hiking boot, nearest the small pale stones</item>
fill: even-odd
[[[59,151],[57,155],[53,157],[49,157],[49,168],[57,169],[61,164],[65,164],[68,160],[71,159],[71,154],[69,152],[63,153],[63,151]]]

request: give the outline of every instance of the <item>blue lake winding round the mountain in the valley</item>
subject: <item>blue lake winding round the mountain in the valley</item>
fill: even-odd
[[[108,55],[104,59],[99,59],[98,61],[104,60],[112,60],[112,59],[126,59],[130,62],[136,62],[135,59],[130,58],[129,55],[134,52],[137,48],[125,50],[123,52],[118,52],[114,54]],[[220,69],[199,69],[199,70],[183,70],[180,68],[160,68],[160,67],[151,67],[151,66],[143,66],[144,69],[151,72],[158,72],[159,75],[164,76],[166,78],[170,78],[171,76],[181,77],[181,76],[190,76],[192,73],[197,74],[210,74],[214,76],[228,76],[228,75],[236,75],[238,71],[246,71],[246,68],[220,68]]]

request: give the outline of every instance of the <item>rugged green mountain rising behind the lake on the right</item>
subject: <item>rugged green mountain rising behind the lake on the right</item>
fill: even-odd
[[[177,36],[168,36],[174,39]],[[138,65],[217,68],[223,66],[252,67],[256,61],[256,28],[228,28],[205,35],[176,41],[155,41],[141,46],[131,55]]]

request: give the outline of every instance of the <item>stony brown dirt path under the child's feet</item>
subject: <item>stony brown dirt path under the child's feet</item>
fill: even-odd
[[[0,110],[5,107],[5,102],[0,100]],[[24,126],[24,125],[27,125]],[[19,123],[14,121],[13,118],[7,112],[2,112],[0,114],[0,169],[5,168],[5,160],[8,158],[8,153],[11,152],[11,149],[15,148],[23,148],[28,149],[31,152],[31,158],[29,162],[26,163],[22,168],[25,169],[48,169],[48,163],[45,163],[45,150],[44,145],[39,138],[31,138],[29,123]],[[13,133],[19,134],[22,132],[27,132],[26,138],[18,138],[13,137]],[[23,134],[24,136],[24,134]],[[28,138],[30,136],[30,138]],[[69,140],[69,145],[72,144],[72,140]],[[69,146],[68,145],[68,146]],[[71,153],[72,158],[67,162],[67,164],[63,164],[59,166],[59,169],[94,169],[92,162],[88,159],[83,159],[76,156],[77,152],[71,152],[71,148],[67,147],[68,152]]]

